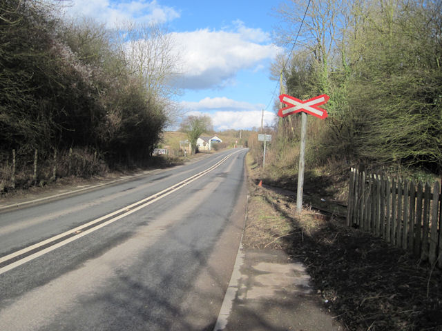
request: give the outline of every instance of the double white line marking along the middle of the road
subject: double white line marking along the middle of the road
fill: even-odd
[[[37,257],[41,257],[41,255],[51,252],[52,250],[56,250],[57,248],[66,245],[67,243],[84,237],[86,236],[86,234],[90,234],[91,232],[94,232],[95,230],[103,228],[108,224],[118,221],[119,219],[122,219],[123,217],[126,217],[133,212],[137,212],[138,210],[150,205],[151,203],[154,203],[155,201],[167,197],[169,194],[180,190],[180,188],[183,188],[189,183],[204,176],[204,174],[207,174],[215,168],[218,168],[222,163],[224,163],[224,161],[226,161],[227,159],[229,159],[229,157],[238,152],[240,151],[236,151],[227,155],[227,157],[224,157],[223,159],[212,165],[210,168],[207,168],[206,170],[199,172],[198,174],[194,174],[193,176],[184,179],[184,181],[180,181],[180,183],[176,183],[175,185],[172,185],[169,188],[162,190],[161,192],[157,192],[150,197],[137,201],[119,210],[115,210],[115,212],[111,212],[110,214],[99,217],[98,219],[95,219],[83,225],[77,226],[77,228],[73,228],[61,234],[57,234],[54,237],[51,237],[39,243],[35,243],[34,245],[23,248],[22,250],[17,250],[17,252],[13,252],[4,257],[1,257],[0,274],[17,268],[19,265],[22,265],[28,261],[32,261]]]

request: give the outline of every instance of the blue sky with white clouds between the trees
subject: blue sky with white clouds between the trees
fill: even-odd
[[[248,130],[275,120],[277,82],[271,61],[278,0],[70,0],[66,14],[91,17],[108,28],[118,22],[160,23],[180,49],[175,84],[184,114],[208,114],[217,131]],[[276,92],[275,92],[276,91]]]

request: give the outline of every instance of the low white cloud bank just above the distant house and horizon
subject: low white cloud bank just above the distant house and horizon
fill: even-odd
[[[248,103],[226,97],[204,98],[198,102],[182,101],[180,106],[187,115],[209,115],[215,130],[251,129],[261,126],[261,103]],[[271,126],[275,121],[273,112],[264,112],[264,125]]]

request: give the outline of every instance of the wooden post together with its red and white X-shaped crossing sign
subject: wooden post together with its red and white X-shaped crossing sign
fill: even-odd
[[[319,95],[305,101],[291,97],[288,94],[281,94],[279,96],[281,103],[285,103],[287,107],[281,108],[278,111],[280,117],[286,117],[290,114],[301,112],[301,141],[299,151],[299,170],[298,170],[298,191],[296,192],[296,210],[298,213],[302,211],[302,191],[304,190],[304,154],[305,154],[305,134],[307,132],[307,114],[311,114],[319,119],[328,117],[327,110],[319,108],[329,101],[330,97],[327,94]]]

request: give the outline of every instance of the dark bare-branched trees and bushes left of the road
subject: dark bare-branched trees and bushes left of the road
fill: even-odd
[[[110,31],[51,12],[47,1],[0,0],[0,154],[90,147],[111,162],[148,158],[166,99],[133,74]]]

